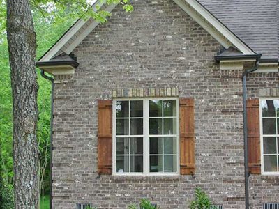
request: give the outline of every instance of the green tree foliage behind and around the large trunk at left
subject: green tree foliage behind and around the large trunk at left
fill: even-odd
[[[77,19],[93,17],[100,23],[107,22],[111,13],[103,10],[102,3],[121,3],[123,10],[132,12],[130,0],[98,0],[95,7],[87,0],[30,0],[37,40],[37,59],[62,36]],[[38,70],[39,73],[39,70]],[[8,43],[6,40],[6,0],[0,3],[0,165],[3,184],[3,200],[13,205],[10,194],[13,185],[13,102],[10,88]],[[38,76],[38,145],[40,151],[40,186],[43,193],[50,189],[50,108],[51,84]],[[4,185],[4,186],[3,186]],[[1,192],[0,191],[0,192]],[[42,192],[42,191],[41,191]],[[8,199],[10,198],[10,199]],[[4,206],[1,203],[1,206]],[[9,206],[5,205],[6,208]],[[1,208],[0,208],[1,209]]]

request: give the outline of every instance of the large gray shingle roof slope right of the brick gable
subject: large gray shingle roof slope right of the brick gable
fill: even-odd
[[[278,0],[198,0],[263,59],[278,59]]]

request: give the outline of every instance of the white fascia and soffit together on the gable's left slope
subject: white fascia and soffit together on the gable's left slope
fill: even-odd
[[[107,1],[100,1],[93,5],[93,10],[96,11],[96,6],[104,6]],[[112,10],[117,6],[117,4],[110,4],[105,7],[104,10],[112,12]],[[47,51],[39,60],[39,62],[50,61],[53,56],[65,52],[70,54],[73,49],[84,40],[84,38],[89,35],[89,33],[100,24],[100,22],[93,20],[92,17],[87,20],[77,20],[75,24]]]

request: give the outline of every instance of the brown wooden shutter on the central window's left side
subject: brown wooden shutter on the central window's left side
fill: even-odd
[[[112,173],[112,100],[98,101],[98,173]]]

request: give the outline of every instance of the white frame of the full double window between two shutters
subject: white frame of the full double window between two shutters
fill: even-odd
[[[116,172],[116,101],[133,101],[143,100],[143,173],[117,173]],[[168,135],[168,137],[177,137],[176,141],[176,172],[149,172],[149,100],[176,100],[176,134]],[[147,101],[147,102],[144,102]],[[133,137],[133,136],[131,136]],[[139,137],[137,135],[137,137]],[[156,135],[163,137],[163,135]],[[163,98],[115,98],[112,101],[112,176],[179,176],[179,98],[163,97]]]

